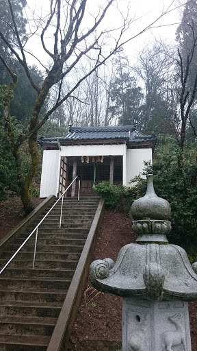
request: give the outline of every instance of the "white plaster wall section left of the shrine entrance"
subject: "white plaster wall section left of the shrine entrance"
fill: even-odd
[[[42,175],[40,197],[57,196],[60,180],[59,150],[44,150],[42,159]]]

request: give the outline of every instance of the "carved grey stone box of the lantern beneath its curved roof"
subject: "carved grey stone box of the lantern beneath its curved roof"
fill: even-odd
[[[122,351],[192,351],[187,302],[123,298]]]

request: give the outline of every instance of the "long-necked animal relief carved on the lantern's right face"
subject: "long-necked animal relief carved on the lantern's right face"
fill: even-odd
[[[168,331],[163,333],[163,350],[173,351],[173,346],[179,346],[183,344],[183,350],[187,351],[185,328],[183,327],[181,322],[179,322],[179,319],[181,319],[181,315],[176,314],[172,317],[168,317],[168,319],[170,319],[170,322],[172,322],[174,326],[176,326],[176,331]]]

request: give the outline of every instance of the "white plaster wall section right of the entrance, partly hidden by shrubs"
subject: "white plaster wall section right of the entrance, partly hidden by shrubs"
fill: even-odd
[[[127,149],[127,186],[136,175],[142,175],[144,161],[152,163],[152,149]],[[143,175],[142,175],[143,176]]]

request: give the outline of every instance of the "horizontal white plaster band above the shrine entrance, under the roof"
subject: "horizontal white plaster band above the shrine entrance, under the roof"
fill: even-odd
[[[120,156],[126,145],[69,145],[61,146],[60,156]]]

